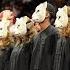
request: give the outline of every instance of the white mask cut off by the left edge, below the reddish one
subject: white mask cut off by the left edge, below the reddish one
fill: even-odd
[[[7,25],[0,22],[0,38],[6,38],[8,35]]]

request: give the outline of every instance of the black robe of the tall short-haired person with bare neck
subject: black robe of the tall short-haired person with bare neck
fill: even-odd
[[[30,70],[52,70],[58,32],[52,25],[34,40]]]

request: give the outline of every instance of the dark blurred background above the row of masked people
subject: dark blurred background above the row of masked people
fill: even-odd
[[[24,15],[31,17],[35,7],[44,1],[52,4],[56,12],[59,7],[70,5],[70,0],[0,0],[0,11],[11,9],[16,12],[17,17]]]

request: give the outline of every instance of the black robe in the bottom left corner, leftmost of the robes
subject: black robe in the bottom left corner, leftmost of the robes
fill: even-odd
[[[0,70],[9,70],[10,55],[13,48],[10,45],[8,46],[7,48],[0,49]]]

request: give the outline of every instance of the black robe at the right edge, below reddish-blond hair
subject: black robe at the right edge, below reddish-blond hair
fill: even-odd
[[[70,70],[70,38],[61,37],[57,42],[53,70]]]

